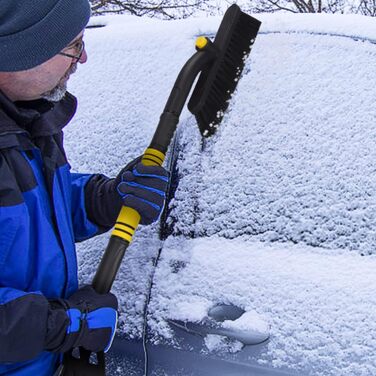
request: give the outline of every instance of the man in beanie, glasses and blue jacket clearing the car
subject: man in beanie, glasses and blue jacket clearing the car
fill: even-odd
[[[87,55],[87,0],[0,0],[0,375],[52,375],[75,347],[108,350],[117,300],[78,289],[75,242],[124,204],[157,220],[167,172],[140,159],[115,179],[70,172],[67,81]]]

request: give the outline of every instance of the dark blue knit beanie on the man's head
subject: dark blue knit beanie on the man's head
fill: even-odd
[[[89,18],[88,0],[0,0],[0,72],[27,70],[49,60]]]

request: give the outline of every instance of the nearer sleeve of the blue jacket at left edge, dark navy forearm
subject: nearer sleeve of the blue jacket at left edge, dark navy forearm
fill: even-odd
[[[13,158],[8,158],[11,153]],[[21,277],[18,279],[17,268],[12,267],[14,262],[21,266],[28,262],[17,252],[24,241],[21,221],[27,223],[27,219],[23,197],[12,172],[14,167],[29,176],[25,166],[25,159],[18,152],[11,149],[0,152],[0,374],[2,363],[29,360],[42,352],[48,327],[46,297],[39,291],[25,292],[17,288],[22,284]],[[31,175],[28,181],[33,183]]]

